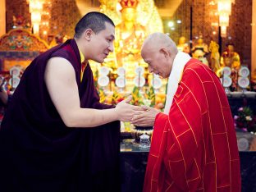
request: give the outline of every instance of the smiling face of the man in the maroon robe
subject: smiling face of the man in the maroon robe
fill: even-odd
[[[108,54],[113,51],[113,41],[115,39],[115,27],[107,22],[105,25],[105,30],[99,31],[98,34],[92,33],[89,42],[92,50],[89,53],[89,58],[99,63],[104,62]]]

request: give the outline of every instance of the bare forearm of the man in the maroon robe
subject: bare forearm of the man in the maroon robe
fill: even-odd
[[[62,117],[62,119],[68,127],[89,128],[117,121],[118,115],[114,108],[103,110],[80,108],[73,112],[67,112],[66,117]]]

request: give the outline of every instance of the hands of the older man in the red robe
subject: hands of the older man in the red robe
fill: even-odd
[[[153,126],[155,118],[160,111],[148,106],[142,106],[142,108],[144,112],[135,114],[130,122],[135,126]]]

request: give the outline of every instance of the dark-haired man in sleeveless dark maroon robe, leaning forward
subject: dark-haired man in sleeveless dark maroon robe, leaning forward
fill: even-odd
[[[120,122],[140,109],[99,103],[89,60],[113,51],[115,25],[89,12],[74,39],[25,70],[0,130],[0,191],[120,191]]]

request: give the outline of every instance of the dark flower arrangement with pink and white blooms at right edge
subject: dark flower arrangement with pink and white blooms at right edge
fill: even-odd
[[[256,132],[256,117],[249,107],[240,107],[234,117],[235,126],[241,130]]]

